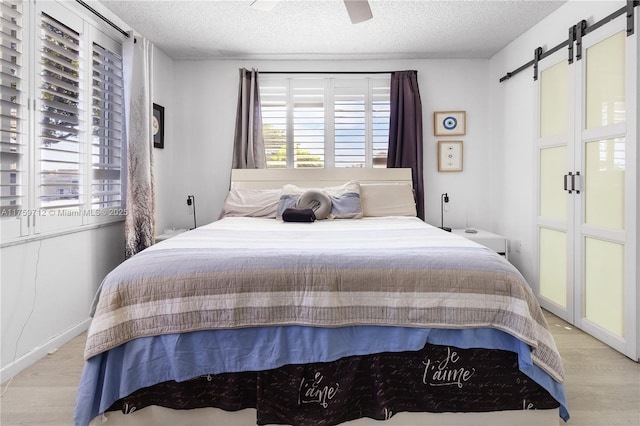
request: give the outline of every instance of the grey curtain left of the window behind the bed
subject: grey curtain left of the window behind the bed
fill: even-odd
[[[251,68],[251,71],[240,68],[232,167],[234,169],[267,167],[262,134],[258,70],[255,68]]]

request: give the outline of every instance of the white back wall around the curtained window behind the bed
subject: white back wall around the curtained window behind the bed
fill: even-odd
[[[189,227],[185,209],[188,194],[196,196],[198,224],[217,219],[229,187],[231,153],[238,92],[238,69],[261,71],[387,71],[418,70],[423,105],[424,176],[427,222],[440,224],[440,195],[451,202],[445,225],[464,227],[467,213],[476,226],[490,229],[495,214],[485,202],[492,168],[489,138],[489,64],[484,60],[405,61],[181,61],[174,64],[174,100],[171,107],[174,189],[158,187],[158,197],[171,198],[172,207],[158,211],[158,222]],[[449,139],[464,141],[464,171],[437,171],[437,138],[433,111],[465,110],[467,134]],[[444,139],[444,138],[441,138]],[[158,150],[156,150],[157,152]],[[156,168],[156,176],[164,173]],[[159,185],[158,185],[159,186]]]

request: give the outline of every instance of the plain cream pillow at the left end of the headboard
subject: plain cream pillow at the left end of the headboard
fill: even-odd
[[[249,216],[275,218],[280,203],[280,189],[231,188],[224,201],[220,218]]]

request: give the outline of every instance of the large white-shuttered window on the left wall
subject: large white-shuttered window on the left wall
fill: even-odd
[[[120,220],[122,40],[61,2],[0,10],[3,242]]]

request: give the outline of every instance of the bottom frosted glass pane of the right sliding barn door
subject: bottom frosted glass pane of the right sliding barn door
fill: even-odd
[[[624,246],[585,238],[585,318],[624,337]]]

